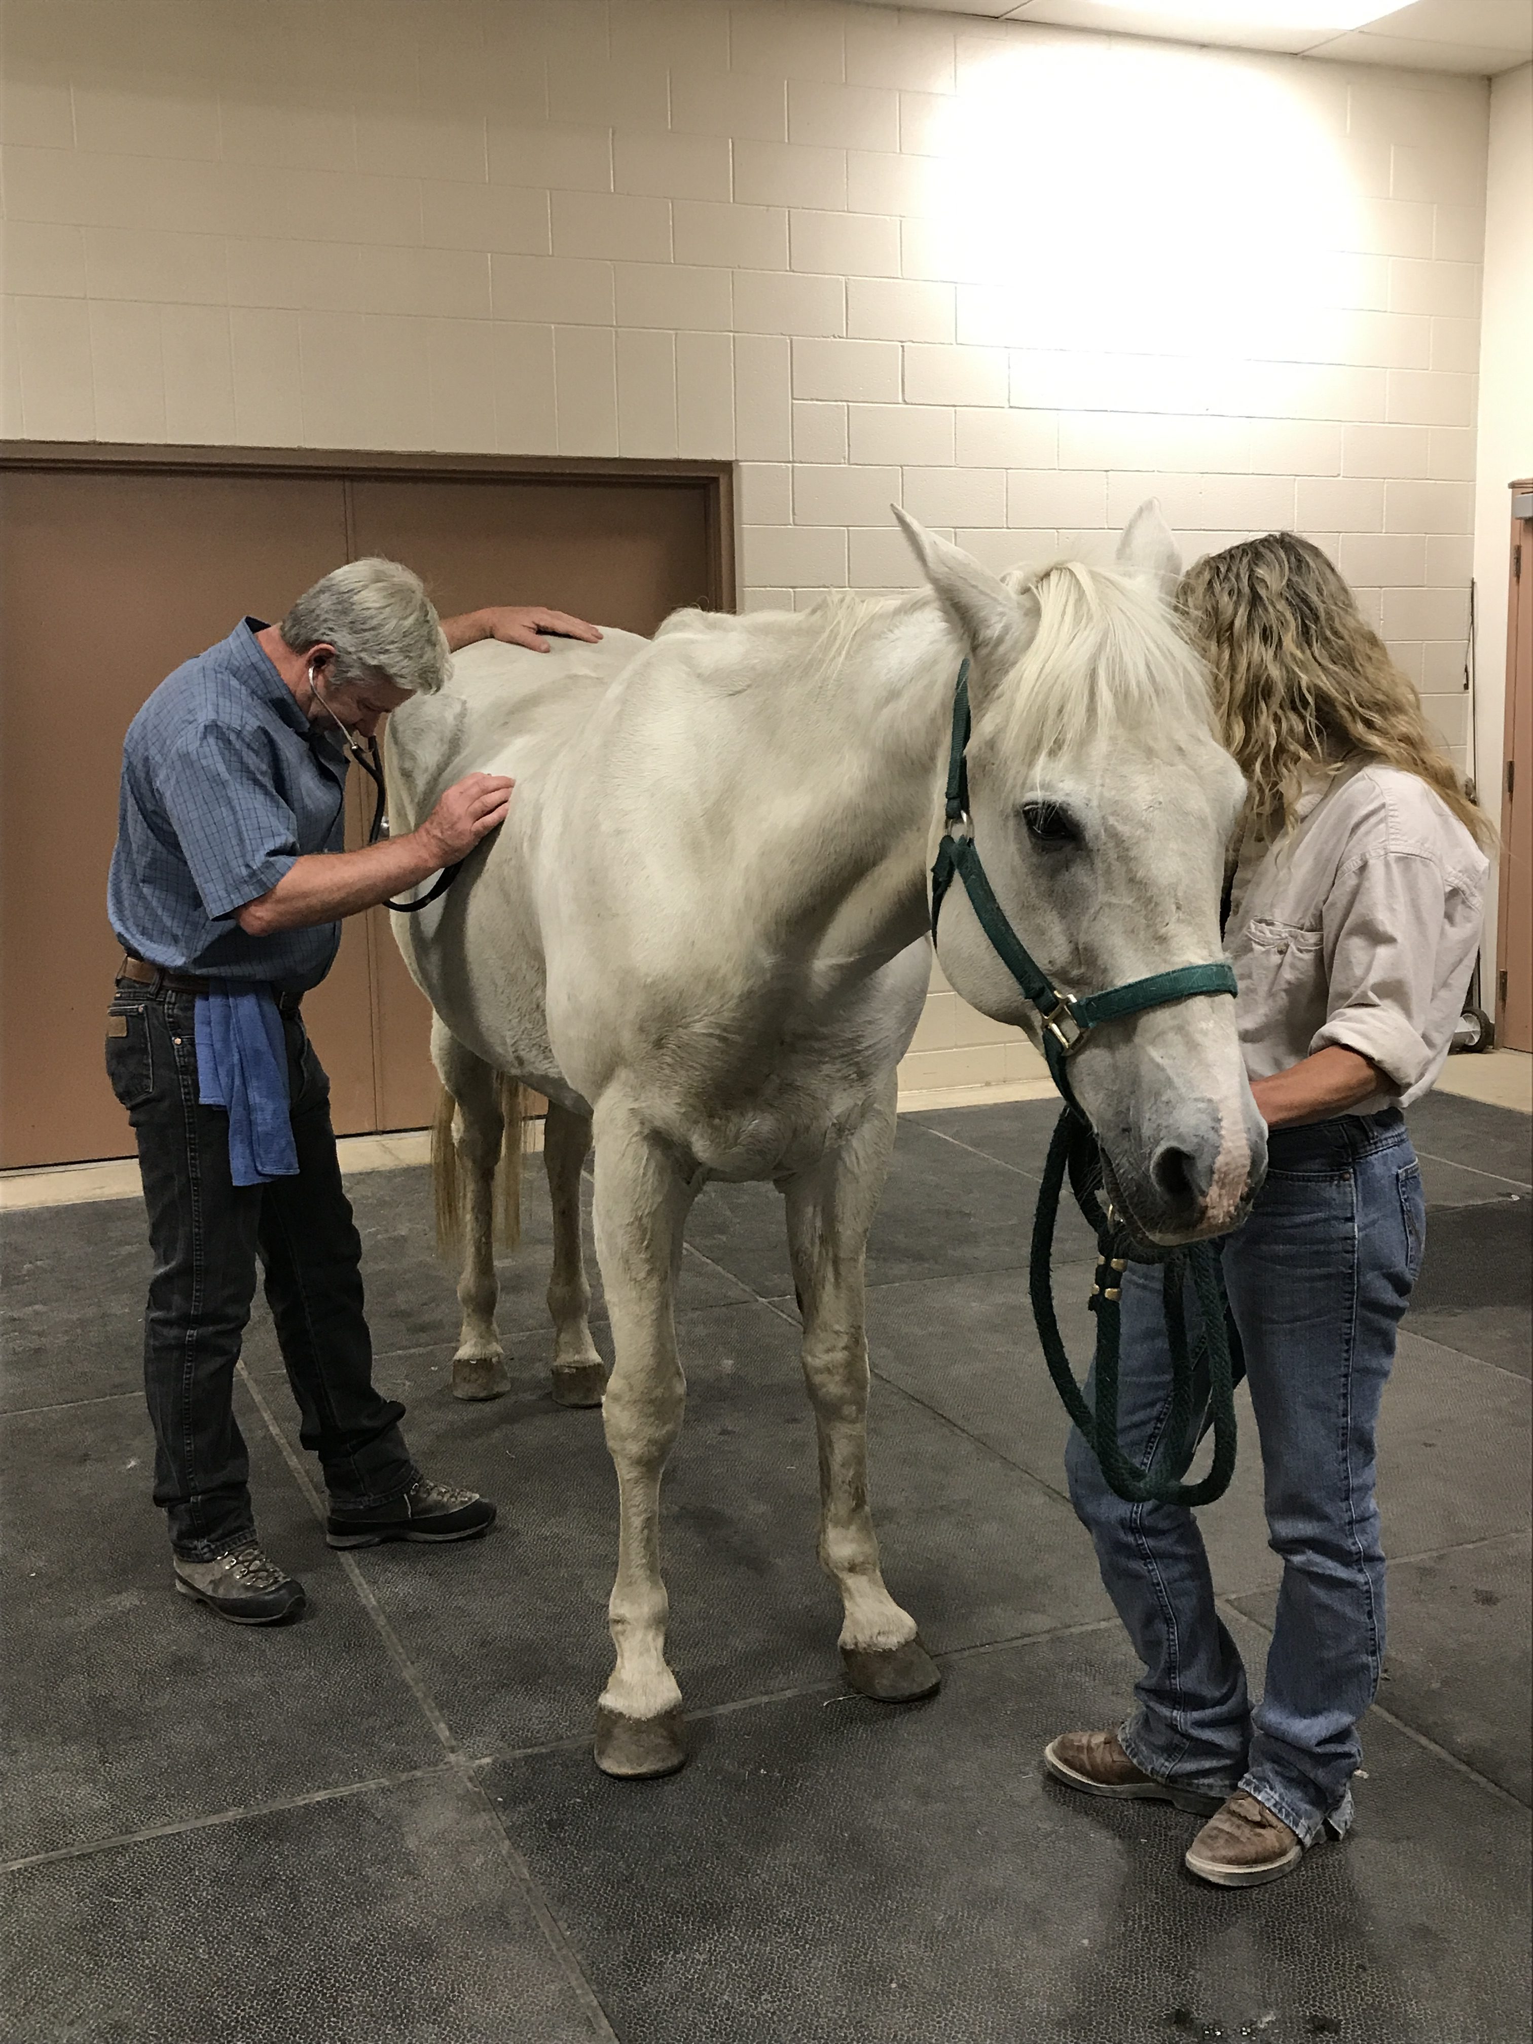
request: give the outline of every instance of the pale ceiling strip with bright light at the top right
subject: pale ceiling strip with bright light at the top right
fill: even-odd
[[[875,6],[912,6],[912,0],[873,0]],[[1331,6],[1306,0],[914,0],[944,14],[983,14],[989,20],[1051,22],[1067,29],[1104,29],[1120,35],[1165,37],[1173,43],[1212,43],[1224,49],[1275,49],[1345,63],[1394,63],[1416,72],[1511,72],[1533,57],[1533,0],[1412,0],[1363,29],[1316,29]],[[1210,20],[1224,14],[1310,16],[1310,27],[1249,29]]]

